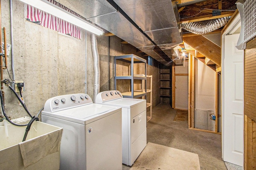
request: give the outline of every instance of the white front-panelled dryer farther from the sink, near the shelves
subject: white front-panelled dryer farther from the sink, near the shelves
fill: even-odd
[[[146,100],[123,98],[117,90],[100,92],[96,103],[122,107],[122,163],[132,166],[147,144]]]

